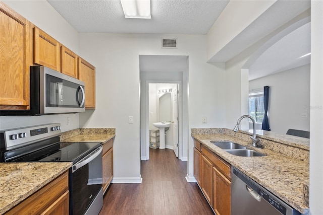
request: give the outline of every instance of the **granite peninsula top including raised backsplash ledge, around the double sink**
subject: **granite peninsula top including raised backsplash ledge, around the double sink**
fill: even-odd
[[[235,166],[299,212],[308,214],[309,140],[289,135],[275,138],[274,133],[265,132],[257,135],[263,145],[262,149],[258,149],[251,146],[251,133],[247,131],[193,128],[191,135],[203,148]],[[266,156],[231,155],[213,145],[211,140],[236,142]]]

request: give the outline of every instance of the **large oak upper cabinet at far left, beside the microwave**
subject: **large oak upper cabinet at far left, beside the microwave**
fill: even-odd
[[[0,109],[29,108],[28,20],[0,2]]]

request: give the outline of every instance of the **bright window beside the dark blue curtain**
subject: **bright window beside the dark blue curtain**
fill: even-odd
[[[256,123],[262,124],[264,115],[263,90],[251,90],[249,92],[249,115],[254,118]]]

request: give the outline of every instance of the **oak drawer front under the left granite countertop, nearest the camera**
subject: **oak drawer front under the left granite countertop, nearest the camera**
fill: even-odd
[[[63,175],[9,210],[6,214],[40,214],[66,191],[68,193],[68,190],[68,172],[65,172]]]

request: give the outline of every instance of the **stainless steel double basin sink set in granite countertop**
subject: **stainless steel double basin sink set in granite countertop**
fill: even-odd
[[[254,150],[248,149],[242,145],[236,144],[235,142],[230,141],[211,141],[212,144],[216,145],[217,147],[225,150],[226,152],[241,156],[241,157],[259,157],[259,156],[266,156],[262,153],[256,152]]]

